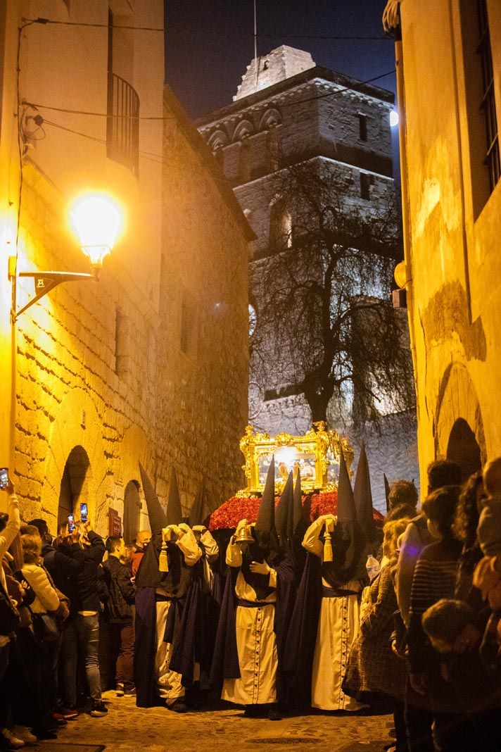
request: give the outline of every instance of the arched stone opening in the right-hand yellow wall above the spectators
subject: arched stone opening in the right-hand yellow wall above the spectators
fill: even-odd
[[[443,375],[434,435],[436,459],[454,459],[463,468],[465,478],[487,459],[480,404],[462,363],[451,363]]]

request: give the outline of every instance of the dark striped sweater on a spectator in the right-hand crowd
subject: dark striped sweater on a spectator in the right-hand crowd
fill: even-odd
[[[421,616],[441,598],[453,598],[456,584],[460,541],[445,538],[424,547],[412,579],[407,644],[409,669],[421,674],[427,670],[434,651],[421,625]]]

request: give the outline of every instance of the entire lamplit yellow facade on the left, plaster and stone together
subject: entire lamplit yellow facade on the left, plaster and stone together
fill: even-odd
[[[137,178],[107,157],[106,143],[47,126],[47,137],[23,156],[18,270],[89,271],[68,230],[68,199],[77,187],[113,193],[128,216],[125,234],[105,259],[98,283],[57,287],[13,326],[7,259],[15,249],[19,207],[12,85],[19,5],[8,0],[2,8],[5,15],[0,13],[5,63],[0,176],[9,177],[0,186],[0,465],[11,468],[23,519],[44,517],[52,532],[71,486],[76,513],[77,502],[85,500],[93,526],[107,533],[108,509],[123,517],[125,488],[130,481],[140,481],[138,461],[162,503],[175,467],[186,511],[203,476],[209,504],[215,507],[241,486],[238,441],[246,425],[249,228],[236,202],[228,205],[220,190],[207,162],[210,154],[187,137],[179,105],[164,113],[163,35],[148,45],[142,32],[134,49],[141,114],[165,114],[168,120],[165,127],[162,120],[140,124],[140,150],[157,158],[140,159]],[[135,8],[137,26],[161,25],[161,0],[127,5]],[[25,9],[29,17],[54,17],[53,10],[50,2],[27,3]],[[67,17],[68,9],[58,6],[58,13]],[[92,8],[86,0],[71,2],[71,19],[88,21],[93,14],[106,23],[107,2],[99,0]],[[64,28],[58,27],[57,34]],[[54,29],[29,27],[23,32],[22,96],[31,101],[37,96],[38,102],[47,97],[45,104],[58,106],[55,98],[62,96],[71,108],[106,111],[106,29],[99,30],[94,47],[87,32],[79,37],[74,28],[68,29],[53,58]],[[40,46],[44,49],[38,53]],[[70,53],[68,67],[65,54]],[[55,71],[65,74],[61,86],[53,80]],[[44,117],[50,115],[44,112]],[[105,118],[73,113],[57,117],[68,127],[105,137]],[[186,292],[195,302],[196,346],[189,353],[180,347]],[[20,280],[17,308],[32,294],[32,280]],[[68,458],[73,458],[69,465]],[[77,471],[68,481],[72,462]],[[5,496],[0,494],[2,506]],[[140,526],[146,525],[142,514]]]

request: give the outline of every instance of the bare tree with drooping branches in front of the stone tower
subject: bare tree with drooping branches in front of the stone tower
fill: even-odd
[[[362,426],[415,397],[406,320],[390,301],[394,193],[362,205],[358,175],[320,159],[277,174],[282,214],[273,221],[272,205],[270,247],[251,268],[251,378],[296,385],[312,420],[326,420],[329,404],[339,420],[344,405],[346,422]]]

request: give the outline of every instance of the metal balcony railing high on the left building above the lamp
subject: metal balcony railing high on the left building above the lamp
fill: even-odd
[[[108,73],[107,156],[139,174],[139,97],[130,83]]]

